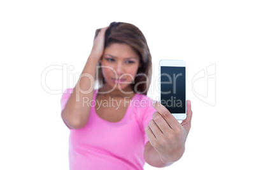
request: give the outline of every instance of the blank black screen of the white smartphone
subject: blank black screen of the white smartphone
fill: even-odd
[[[183,114],[186,109],[186,67],[160,68],[160,103],[171,114]]]

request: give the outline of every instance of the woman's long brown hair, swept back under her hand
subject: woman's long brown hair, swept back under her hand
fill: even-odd
[[[98,32],[99,30],[96,30],[96,36]],[[135,93],[146,95],[152,78],[152,58],[145,36],[138,27],[131,23],[112,22],[106,30],[104,48],[113,43],[127,44],[138,53],[140,67],[131,86]],[[101,67],[99,67],[96,81],[99,83],[99,87],[105,83]]]

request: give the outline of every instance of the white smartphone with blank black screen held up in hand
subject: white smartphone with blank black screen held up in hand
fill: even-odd
[[[177,120],[187,117],[186,63],[183,60],[160,60],[160,103]]]

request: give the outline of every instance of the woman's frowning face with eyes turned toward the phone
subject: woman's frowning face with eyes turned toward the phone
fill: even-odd
[[[101,66],[111,89],[129,89],[139,68],[139,56],[131,46],[113,43],[104,49]]]

